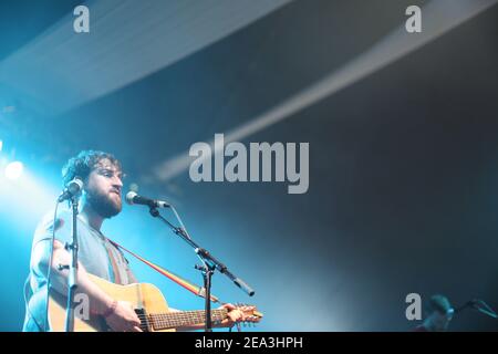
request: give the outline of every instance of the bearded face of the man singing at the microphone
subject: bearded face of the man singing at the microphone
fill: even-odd
[[[121,169],[108,159],[101,159],[89,175],[85,191],[86,201],[103,218],[112,218],[123,208]]]

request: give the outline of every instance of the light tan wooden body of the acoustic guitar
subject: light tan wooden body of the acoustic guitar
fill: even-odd
[[[127,301],[132,303],[136,311],[143,314],[148,313],[168,313],[168,304],[157,289],[148,283],[135,283],[129,285],[118,285],[111,283],[98,277],[89,274],[93,283],[100,287],[105,293],[117,301]],[[80,300],[80,301],[77,301]],[[105,320],[98,315],[92,315],[90,311],[83,311],[85,300],[75,296],[76,306],[74,311],[74,332],[107,332],[111,331]],[[86,302],[87,304],[87,302]],[[65,305],[66,298],[55,291],[51,291],[49,300],[49,323],[53,332],[65,331]],[[82,315],[83,314],[83,315]],[[86,319],[83,319],[86,317]],[[174,329],[154,331],[153,326],[148,326],[149,332],[174,332]]]

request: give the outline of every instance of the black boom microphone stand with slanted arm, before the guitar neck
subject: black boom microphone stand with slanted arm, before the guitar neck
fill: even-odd
[[[177,218],[178,222],[183,225],[181,219],[179,218],[178,214],[176,212],[175,208],[173,206],[169,206],[175,214],[175,217]],[[173,232],[175,232],[177,236],[179,236],[185,242],[187,242],[194,251],[197,253],[197,257],[199,257],[200,261],[203,262],[203,266],[196,264],[195,268],[197,270],[200,270],[203,272],[203,280],[204,280],[204,289],[205,289],[205,308],[206,308],[206,322],[205,322],[205,331],[211,332],[212,331],[212,321],[211,321],[211,278],[215,273],[215,270],[217,269],[220,273],[227,275],[237,287],[239,287],[241,290],[243,290],[249,296],[252,296],[255,294],[255,290],[252,290],[243,280],[240,278],[237,278],[220,261],[218,261],[216,258],[214,258],[206,249],[200,248],[199,244],[197,244],[190,236],[187,233],[184,227],[176,227],[173,223],[170,223],[168,220],[166,220],[157,210],[157,207],[149,207],[149,212],[154,218],[158,218],[163,220]]]

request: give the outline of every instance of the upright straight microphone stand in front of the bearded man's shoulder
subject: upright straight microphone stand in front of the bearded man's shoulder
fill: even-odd
[[[68,303],[65,311],[65,332],[74,332],[74,293],[77,288],[77,202],[79,196],[71,197],[71,205],[73,209],[73,232],[72,243],[65,244],[65,248],[71,252],[70,266],[59,266],[60,269],[69,269],[68,274]]]

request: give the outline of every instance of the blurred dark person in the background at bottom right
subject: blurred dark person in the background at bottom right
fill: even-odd
[[[427,309],[424,323],[415,327],[415,332],[444,332],[448,330],[455,310],[444,295],[433,295]]]

